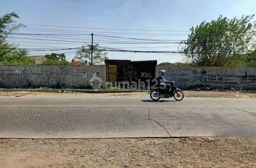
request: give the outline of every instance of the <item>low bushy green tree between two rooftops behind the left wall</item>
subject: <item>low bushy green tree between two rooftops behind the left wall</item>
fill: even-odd
[[[57,54],[46,54],[46,60],[43,61],[43,65],[69,65],[70,63],[66,60],[66,56],[64,53]]]

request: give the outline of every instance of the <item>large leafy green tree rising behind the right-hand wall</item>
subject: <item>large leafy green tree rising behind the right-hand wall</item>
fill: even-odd
[[[254,46],[255,22],[252,16],[228,19],[220,16],[211,22],[202,22],[191,33],[182,48],[189,61],[195,66],[232,66],[239,64]],[[236,61],[238,62],[236,62]],[[234,66],[234,65],[233,65]]]

